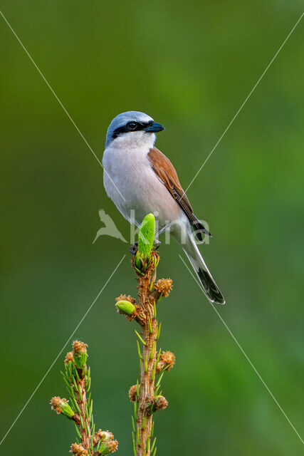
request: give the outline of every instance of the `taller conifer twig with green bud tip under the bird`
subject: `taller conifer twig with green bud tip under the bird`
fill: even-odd
[[[140,228],[138,250],[132,258],[132,266],[137,274],[138,301],[130,295],[120,295],[116,307],[129,321],[135,320],[141,326],[137,333],[138,354],[140,357],[140,382],[129,390],[130,400],[134,403],[132,417],[133,449],[135,456],[154,456],[156,454],[153,413],[167,407],[167,400],[159,394],[162,375],[155,385],[156,375],[169,371],[175,358],[170,352],[157,352],[161,323],[157,321],[157,303],[162,296],[168,296],[172,289],[171,279],[156,279],[159,255],[153,249],[154,217],[145,217]],[[136,427],[135,427],[136,423]]]

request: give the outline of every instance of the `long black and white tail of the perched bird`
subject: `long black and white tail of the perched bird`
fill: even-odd
[[[192,233],[189,233],[187,243],[183,247],[185,254],[189,258],[196,275],[201,281],[204,292],[211,303],[225,304],[225,298],[221,294],[219,287],[216,285],[213,277],[211,276],[206,263],[201,257],[201,253],[196,246]]]

